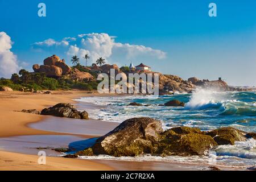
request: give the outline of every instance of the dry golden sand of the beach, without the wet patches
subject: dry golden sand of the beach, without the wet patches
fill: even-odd
[[[47,116],[17,112],[22,109],[42,110],[44,107],[55,105],[59,102],[74,103],[72,98],[92,96],[97,93],[87,92],[54,92],[53,94],[35,94],[22,92],[0,92],[0,137],[22,135],[65,135],[51,131],[36,130],[27,125],[39,122]],[[68,134],[67,134],[68,135]],[[82,137],[92,137],[82,135]],[[109,170],[105,164],[88,160],[65,159],[48,157],[47,165],[37,163],[38,156],[24,155],[14,152],[0,151],[0,170]]]

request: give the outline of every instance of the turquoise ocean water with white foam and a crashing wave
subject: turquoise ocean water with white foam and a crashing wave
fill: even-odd
[[[185,107],[158,106],[170,100],[185,102]],[[96,105],[86,109],[93,119],[123,122],[133,117],[151,117],[159,119],[164,129],[177,126],[199,127],[201,130],[213,130],[220,127],[235,127],[247,132],[256,132],[256,92],[216,92],[199,89],[192,94],[172,96],[124,96],[124,97],[84,97],[77,99],[82,107],[85,103]],[[128,106],[137,102],[150,106]],[[89,157],[85,157],[89,158]],[[101,156],[101,158],[112,158]],[[143,160],[145,156],[133,158]],[[229,167],[251,167],[256,164],[256,142],[236,142],[235,146],[218,146],[206,156],[183,158],[170,156],[154,160],[201,163],[201,160]],[[113,158],[114,160],[115,158]],[[130,158],[123,158],[129,159]],[[213,159],[213,160],[212,160]]]

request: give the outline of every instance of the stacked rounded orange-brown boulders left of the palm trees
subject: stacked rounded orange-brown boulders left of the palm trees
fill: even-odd
[[[46,73],[48,77],[61,77],[62,75],[68,75],[72,71],[71,67],[65,64],[65,60],[61,60],[56,55],[47,57],[44,60],[44,65],[34,64],[33,69],[35,72]]]

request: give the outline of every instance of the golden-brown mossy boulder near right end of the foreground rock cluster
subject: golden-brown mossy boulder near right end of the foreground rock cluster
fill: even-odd
[[[245,132],[232,127],[222,127],[220,129],[209,131],[206,134],[213,137],[216,142],[220,144],[234,144],[234,141],[245,141],[247,139]]]

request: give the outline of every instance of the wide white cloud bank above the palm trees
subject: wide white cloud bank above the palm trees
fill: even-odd
[[[153,49],[151,47],[116,43],[115,36],[109,36],[105,33],[80,34],[76,38],[63,38],[60,42],[54,39],[47,39],[43,42],[33,44],[33,48],[43,49],[56,47],[53,51],[59,52],[62,49],[67,56],[77,55],[82,58],[86,53],[91,57],[92,61],[103,57],[107,62],[121,63],[129,60],[146,61],[160,60],[166,57],[166,53]]]

